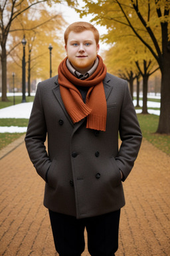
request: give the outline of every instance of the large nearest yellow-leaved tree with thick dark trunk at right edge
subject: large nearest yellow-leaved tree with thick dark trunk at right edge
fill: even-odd
[[[161,113],[157,133],[170,133],[170,41],[169,0],[84,0],[82,15],[92,13],[93,21],[113,31],[120,23],[128,26],[151,52],[161,71]],[[143,35],[144,34],[144,35]]]

